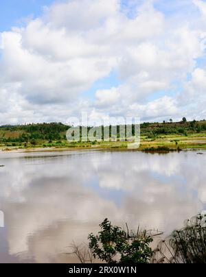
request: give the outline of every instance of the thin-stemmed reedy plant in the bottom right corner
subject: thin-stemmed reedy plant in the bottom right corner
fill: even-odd
[[[153,263],[206,263],[206,215],[187,220],[154,253]]]

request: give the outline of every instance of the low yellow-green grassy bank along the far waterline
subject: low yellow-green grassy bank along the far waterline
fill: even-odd
[[[204,134],[205,135],[205,134]],[[55,151],[72,151],[81,149],[108,149],[108,150],[129,150],[130,143],[126,141],[94,141],[94,142],[73,142],[68,141],[38,141],[36,145],[30,143],[0,145],[1,152],[55,152]],[[135,151],[143,152],[174,152],[184,149],[206,149],[205,136],[160,136],[157,139],[148,139],[141,137],[140,145]]]

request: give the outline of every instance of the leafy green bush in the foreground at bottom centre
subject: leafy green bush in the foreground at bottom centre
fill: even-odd
[[[98,235],[89,234],[89,249],[94,258],[106,263],[149,263],[152,258],[150,243],[152,237],[147,232],[129,234],[108,219],[100,224]]]

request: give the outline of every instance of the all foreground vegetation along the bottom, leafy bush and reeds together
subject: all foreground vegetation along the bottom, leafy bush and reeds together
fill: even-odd
[[[197,215],[175,230],[170,237],[152,250],[156,233],[129,232],[112,226],[108,219],[100,224],[97,235],[89,234],[89,247],[71,245],[81,263],[93,263],[98,258],[104,263],[206,263],[206,215]],[[162,234],[162,233],[161,233]]]

